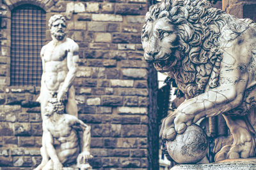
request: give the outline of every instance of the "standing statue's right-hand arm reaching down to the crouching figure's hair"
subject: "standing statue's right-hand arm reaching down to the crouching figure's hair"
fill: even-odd
[[[78,55],[78,50],[79,46],[77,43],[73,43],[70,45],[71,47],[68,48],[67,52],[67,67],[68,67],[68,73],[65,78],[65,81],[63,85],[61,86],[61,89],[58,93],[58,101],[62,101],[63,96],[67,95],[67,92],[72,85],[72,82],[76,78],[76,72],[77,72],[77,67],[78,67],[78,60],[79,60],[79,55]],[[64,99],[65,100],[65,99]]]

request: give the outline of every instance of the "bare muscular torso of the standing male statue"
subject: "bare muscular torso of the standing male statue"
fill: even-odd
[[[77,53],[77,44],[70,38],[66,38],[58,45],[53,41],[42,48],[41,57],[44,63],[42,80],[46,88],[52,92],[58,92],[68,73],[67,54]]]

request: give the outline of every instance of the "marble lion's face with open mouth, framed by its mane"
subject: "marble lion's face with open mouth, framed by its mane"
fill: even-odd
[[[177,63],[177,44],[175,26],[170,24],[168,18],[147,22],[142,34],[144,58],[147,62],[154,63],[157,71],[167,72]]]

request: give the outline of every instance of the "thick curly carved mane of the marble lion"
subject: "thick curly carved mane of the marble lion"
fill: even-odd
[[[250,21],[212,8],[205,0],[165,0],[150,6],[142,34],[148,22],[162,17],[175,25],[179,37],[181,56],[168,72],[179,90],[191,98],[202,94],[207,84],[216,87],[223,53],[221,46],[244,32]],[[221,35],[221,31],[227,29],[232,31],[229,38]]]

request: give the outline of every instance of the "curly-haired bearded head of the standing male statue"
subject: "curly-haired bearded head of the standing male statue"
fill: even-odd
[[[59,41],[65,38],[67,23],[63,15],[53,15],[49,19],[49,27],[54,38],[58,39]]]

